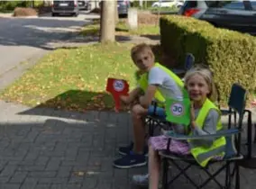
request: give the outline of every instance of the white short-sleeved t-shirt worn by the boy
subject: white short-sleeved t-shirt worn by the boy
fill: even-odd
[[[164,98],[183,100],[183,94],[176,82],[160,67],[152,67],[148,78],[149,85],[158,85],[158,90]]]

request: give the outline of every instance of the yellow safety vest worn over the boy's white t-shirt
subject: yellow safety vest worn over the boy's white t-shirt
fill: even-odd
[[[182,80],[172,71],[170,71],[167,67],[160,65],[160,63],[155,63],[154,67],[160,67],[163,71],[165,71],[176,82],[176,84],[180,87],[180,89],[184,87],[184,83],[182,82]],[[145,92],[148,87],[148,73],[142,74],[142,76],[139,79],[139,85],[142,88],[142,90]],[[160,103],[165,102],[165,98],[160,93],[159,90],[156,91],[154,98]]]

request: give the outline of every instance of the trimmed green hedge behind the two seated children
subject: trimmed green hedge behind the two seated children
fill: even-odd
[[[226,102],[231,85],[239,83],[249,92],[256,86],[256,40],[249,34],[215,28],[194,18],[169,15],[160,18],[160,42],[165,53],[184,64],[187,52],[196,63],[215,73],[215,82]]]

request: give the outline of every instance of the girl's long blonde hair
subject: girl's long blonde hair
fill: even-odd
[[[203,66],[197,66],[189,69],[184,77],[186,88],[188,80],[191,78],[191,76],[195,75],[202,76],[205,79],[206,84],[208,85],[210,91],[210,93],[207,94],[207,98],[212,102],[215,102],[217,100],[218,94],[216,91],[213,72],[211,72],[209,68]]]

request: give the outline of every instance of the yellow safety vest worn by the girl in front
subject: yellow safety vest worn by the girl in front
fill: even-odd
[[[196,119],[197,126],[201,130],[203,129],[204,123],[206,121],[206,117],[211,109],[217,110],[221,115],[221,112],[215,106],[215,103],[212,103],[209,99],[206,99],[206,102],[204,103],[202,109],[198,113],[197,119]],[[217,123],[216,130],[222,130],[222,129],[223,129],[223,125],[220,119]],[[190,133],[190,135],[191,134],[192,133]],[[193,139],[188,139],[188,143],[190,143],[190,147],[193,147],[190,149],[191,154],[193,155],[193,157],[195,157],[195,159],[197,160],[197,163],[200,166],[206,166],[209,160],[215,157],[216,155],[220,157],[224,157],[225,144],[226,144],[226,140],[224,137],[219,137],[215,139],[211,147],[204,147],[204,146],[198,147],[197,145],[193,145]]]

